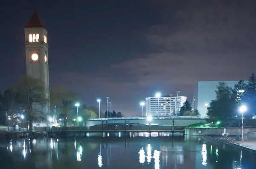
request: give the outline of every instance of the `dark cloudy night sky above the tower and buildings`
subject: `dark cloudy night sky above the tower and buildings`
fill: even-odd
[[[14,3],[15,2],[15,3]],[[18,3],[17,3],[18,2]],[[26,74],[24,26],[37,11],[48,31],[49,85],[87,106],[140,115],[159,91],[188,96],[198,81],[256,73],[255,0],[1,0],[0,90]]]

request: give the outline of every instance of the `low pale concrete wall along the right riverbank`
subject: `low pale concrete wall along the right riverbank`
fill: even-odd
[[[222,135],[224,132],[223,128],[185,128],[185,135]],[[244,128],[244,135],[247,135],[247,132],[256,132],[256,128]],[[226,128],[226,133],[229,135],[241,135],[241,127],[232,127]]]

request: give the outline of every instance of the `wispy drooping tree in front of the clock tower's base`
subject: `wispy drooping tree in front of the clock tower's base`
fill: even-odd
[[[32,131],[33,123],[36,121],[45,121],[45,112],[41,108],[49,101],[44,96],[44,85],[40,79],[32,76],[21,76],[13,87],[15,93],[15,102],[24,110],[24,116],[29,123],[29,131]]]

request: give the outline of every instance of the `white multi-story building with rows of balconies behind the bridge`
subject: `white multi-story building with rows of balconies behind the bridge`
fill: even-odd
[[[146,115],[153,117],[174,116],[180,112],[180,107],[186,101],[186,96],[163,95],[161,97],[148,96],[145,101]]]

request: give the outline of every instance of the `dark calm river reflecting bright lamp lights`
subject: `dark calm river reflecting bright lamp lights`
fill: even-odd
[[[240,166],[241,165],[241,166]],[[256,169],[256,154],[169,133],[0,142],[0,169]]]

